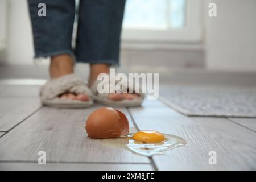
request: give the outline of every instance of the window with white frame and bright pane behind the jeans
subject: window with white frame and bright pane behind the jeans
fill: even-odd
[[[127,0],[122,39],[199,42],[201,0]]]

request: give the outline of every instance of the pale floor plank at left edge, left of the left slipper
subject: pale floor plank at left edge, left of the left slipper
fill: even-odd
[[[8,131],[41,107],[38,98],[0,97],[0,131]]]

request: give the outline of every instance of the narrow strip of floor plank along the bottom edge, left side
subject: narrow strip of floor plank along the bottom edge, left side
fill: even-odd
[[[39,165],[37,163],[0,163],[0,170],[22,170],[22,171],[151,171],[150,164],[107,164],[107,163],[47,163]]]

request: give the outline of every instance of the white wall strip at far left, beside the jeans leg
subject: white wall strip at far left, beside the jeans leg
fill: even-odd
[[[8,64],[31,64],[34,52],[27,1],[8,1],[7,52],[3,61]]]

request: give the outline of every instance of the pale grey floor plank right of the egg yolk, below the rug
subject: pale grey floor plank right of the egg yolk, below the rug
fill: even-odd
[[[141,130],[157,130],[187,140],[186,146],[153,157],[160,170],[256,169],[256,134],[228,119],[171,116],[171,109],[155,115],[146,110],[130,112]],[[217,165],[209,165],[209,151],[217,152]]]

